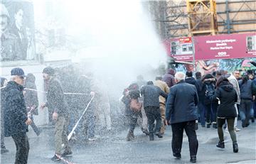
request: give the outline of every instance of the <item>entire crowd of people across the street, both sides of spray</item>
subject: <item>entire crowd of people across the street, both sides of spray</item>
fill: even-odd
[[[71,140],[95,141],[97,122],[102,130],[112,129],[110,99],[104,84],[95,80],[92,73],[78,76],[73,66],[62,69],[46,67],[42,73],[46,102],[41,105],[38,104],[33,74],[25,75],[21,68],[16,67],[11,70],[9,82],[1,77],[1,153],[9,152],[4,145],[4,137],[11,136],[16,145],[16,163],[27,163],[28,160],[28,125],[37,136],[41,133],[33,121],[33,115],[38,115],[38,107],[48,108],[49,124],[55,126],[55,153],[51,158],[54,161],[73,153],[68,138],[70,132],[73,134]],[[233,141],[233,152],[237,153],[235,131],[240,131],[238,119],[242,128],[255,121],[255,96],[256,78],[252,70],[234,70],[232,73],[217,70],[202,76],[201,72],[184,74],[169,69],[166,75],[157,76],[154,82],[139,75],[137,81],[124,89],[120,99],[129,124],[126,139],[135,139],[137,124],[142,133],[149,136],[149,141],[154,141],[154,136],[163,138],[166,126],[171,125],[174,157],[181,158],[185,130],[191,163],[196,163],[196,130],[199,125],[202,129],[212,126],[218,132],[216,146],[225,148],[223,129],[226,129]]]

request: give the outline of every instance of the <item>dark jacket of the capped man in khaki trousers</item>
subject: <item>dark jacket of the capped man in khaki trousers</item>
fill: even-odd
[[[46,106],[50,110],[55,111],[62,116],[67,116],[67,114],[69,114],[68,104],[65,101],[63,93],[63,87],[55,78],[52,78],[49,82],[46,99]]]

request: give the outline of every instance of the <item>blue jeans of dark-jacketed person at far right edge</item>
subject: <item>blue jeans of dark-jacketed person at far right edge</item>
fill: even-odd
[[[252,100],[241,99],[240,102],[240,118],[242,121],[249,120],[251,117]]]

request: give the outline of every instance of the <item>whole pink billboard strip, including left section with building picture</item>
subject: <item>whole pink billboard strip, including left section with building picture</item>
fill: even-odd
[[[173,38],[167,53],[181,61],[193,61],[192,38]],[[256,58],[256,33],[193,37],[195,60]],[[165,43],[166,44],[166,43]]]

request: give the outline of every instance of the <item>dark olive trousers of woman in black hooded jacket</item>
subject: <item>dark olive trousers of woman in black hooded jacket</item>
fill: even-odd
[[[218,136],[219,136],[220,142],[224,141],[223,124],[225,124],[225,120],[227,120],[227,122],[228,122],[228,132],[230,133],[230,137],[231,137],[233,143],[237,143],[236,136],[235,136],[235,130],[234,130],[235,117],[228,118],[228,119],[220,119],[220,118],[217,119]]]

